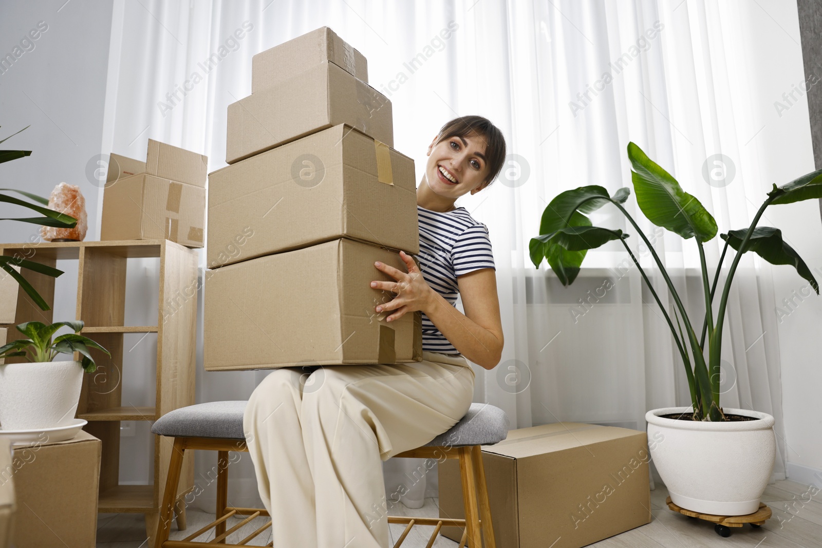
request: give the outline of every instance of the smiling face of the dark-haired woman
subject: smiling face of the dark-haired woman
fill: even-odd
[[[448,137],[428,145],[425,176],[428,187],[439,196],[456,199],[485,187],[488,166],[483,136]]]

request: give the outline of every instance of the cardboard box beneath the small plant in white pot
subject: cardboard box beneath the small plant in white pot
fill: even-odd
[[[14,449],[17,548],[95,546],[102,443],[80,431],[71,440],[48,436]]]

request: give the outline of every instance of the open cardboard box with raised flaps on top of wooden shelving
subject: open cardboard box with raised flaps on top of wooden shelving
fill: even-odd
[[[100,240],[202,247],[208,158],[149,139],[145,162],[111,154]]]

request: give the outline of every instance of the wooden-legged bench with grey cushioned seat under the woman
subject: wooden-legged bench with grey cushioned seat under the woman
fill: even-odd
[[[199,403],[166,413],[155,421],[151,431],[155,434],[174,438],[169,474],[167,477],[163,503],[160,506],[159,525],[155,548],[193,548],[196,546],[222,546],[234,548],[247,546],[247,542],[271,527],[270,520],[250,535],[235,544],[225,540],[233,532],[250,523],[258,516],[269,515],[266,509],[237,508],[228,505],[229,496],[229,451],[247,451],[245,435],[242,431],[242,415],[245,401]],[[483,472],[483,458],[480,445],[491,445],[505,440],[510,422],[505,412],[486,403],[472,403],[469,412],[449,431],[436,436],[429,443],[396,454],[395,458],[458,458],[462,477],[465,519],[413,518],[409,516],[389,516],[388,523],[404,523],[402,535],[395,548],[400,546],[414,525],[435,526],[430,548],[437,533],[443,526],[464,527],[465,531],[459,547],[466,541],[471,548],[496,548],[491,523],[491,509]],[[176,492],[182,457],[186,450],[217,451],[217,508],[215,521],[193,532],[182,541],[169,541],[171,520],[175,509]],[[179,510],[179,509],[178,509]],[[226,520],[232,516],[247,516],[240,523],[226,529]],[[197,536],[215,529],[215,538],[208,542],[194,541]],[[484,539],[484,544],[483,544]],[[273,546],[271,543],[268,546]]]

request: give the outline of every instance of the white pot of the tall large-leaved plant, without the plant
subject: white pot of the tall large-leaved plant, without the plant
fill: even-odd
[[[671,500],[701,513],[754,513],[774,471],[774,417],[746,409],[726,414],[755,421],[679,421],[660,415],[690,408],[653,409],[645,415],[651,458]]]

